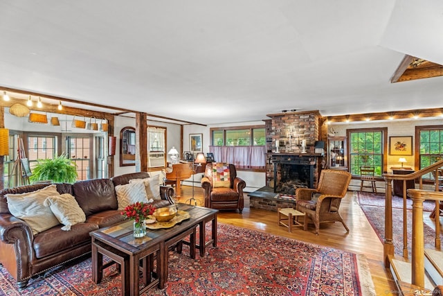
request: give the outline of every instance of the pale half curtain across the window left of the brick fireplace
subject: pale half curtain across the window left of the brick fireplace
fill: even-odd
[[[237,167],[264,168],[265,146],[209,146],[216,162],[227,162]]]

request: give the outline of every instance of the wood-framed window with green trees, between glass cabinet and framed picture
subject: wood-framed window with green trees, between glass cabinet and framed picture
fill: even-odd
[[[347,130],[352,175],[360,175],[360,166],[374,166],[377,177],[386,171],[387,132],[387,128]]]

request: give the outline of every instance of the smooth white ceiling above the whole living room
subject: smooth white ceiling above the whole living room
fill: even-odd
[[[441,0],[0,0],[0,86],[197,123],[442,107]]]

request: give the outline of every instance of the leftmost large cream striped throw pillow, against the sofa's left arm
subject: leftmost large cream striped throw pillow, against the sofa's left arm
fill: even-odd
[[[38,234],[60,224],[51,209],[44,206],[46,198],[55,195],[60,193],[57,186],[51,184],[33,192],[6,194],[6,199],[10,213],[28,223],[33,234]]]

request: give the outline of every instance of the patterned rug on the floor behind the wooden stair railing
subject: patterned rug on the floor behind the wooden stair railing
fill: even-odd
[[[385,240],[385,198],[384,193],[356,192],[356,201],[359,203],[363,213],[374,232],[379,236],[381,243]],[[412,200],[406,200],[406,216],[408,221],[408,247],[412,245]],[[423,203],[424,215],[431,214],[435,203],[425,200]],[[433,248],[435,241],[435,230],[424,224],[424,245]],[[441,236],[443,241],[443,235]],[[395,254],[403,255],[403,198],[392,196],[392,241],[394,243]],[[409,250],[410,254],[410,250]]]

